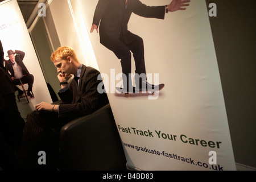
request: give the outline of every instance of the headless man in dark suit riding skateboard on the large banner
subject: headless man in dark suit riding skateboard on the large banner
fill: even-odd
[[[125,90],[134,90],[131,84],[131,52],[135,61],[135,82],[137,88],[153,88],[146,80],[144,63],[143,39],[128,31],[127,24],[131,13],[145,18],[164,19],[169,11],[185,10],[188,1],[173,0],[166,6],[146,6],[139,0],[99,0],[94,12],[93,24],[90,32],[98,32],[100,24],[100,42],[114,52],[121,59],[123,72],[123,86]],[[142,77],[138,77],[142,75]],[[143,76],[144,75],[144,76]],[[125,76],[125,78],[124,78]],[[141,79],[141,80],[139,80]],[[124,82],[126,80],[126,83]]]

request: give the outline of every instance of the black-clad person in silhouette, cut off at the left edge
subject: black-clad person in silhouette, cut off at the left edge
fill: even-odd
[[[2,63],[3,49],[1,41],[0,56]],[[18,150],[25,122],[16,104],[13,83],[2,64],[0,64],[0,83],[0,155],[2,158],[9,159],[11,156],[9,146]],[[12,164],[11,161],[8,163]]]

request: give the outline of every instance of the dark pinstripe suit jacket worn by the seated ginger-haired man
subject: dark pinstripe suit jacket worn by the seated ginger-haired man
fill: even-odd
[[[75,95],[75,80],[69,82],[69,89],[64,93],[58,93],[63,104],[59,107],[59,117],[80,117],[81,115],[90,114],[93,111],[109,103],[106,93],[98,93],[98,84],[102,80],[98,80],[100,72],[92,67],[82,65],[79,95],[73,101]],[[101,78],[101,77],[100,77]]]

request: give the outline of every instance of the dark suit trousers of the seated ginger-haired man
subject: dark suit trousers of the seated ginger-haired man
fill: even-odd
[[[56,170],[59,150],[59,133],[68,119],[59,119],[55,112],[33,111],[27,115],[18,155],[20,169]],[[46,165],[39,164],[38,153],[46,152]]]

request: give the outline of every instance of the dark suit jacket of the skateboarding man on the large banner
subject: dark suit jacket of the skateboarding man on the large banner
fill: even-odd
[[[146,18],[164,19],[164,6],[146,6],[139,0],[99,0],[94,13],[93,24],[100,24],[100,42],[112,49],[115,42],[123,35],[125,43],[130,42],[131,33],[127,29],[131,13]]]

